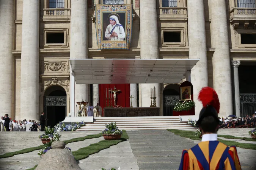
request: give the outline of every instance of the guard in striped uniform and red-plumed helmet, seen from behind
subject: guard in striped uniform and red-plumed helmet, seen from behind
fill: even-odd
[[[227,146],[217,139],[221,124],[218,119],[220,102],[213,88],[204,87],[198,95],[203,109],[196,127],[202,132],[202,141],[190,150],[182,151],[179,170],[241,170],[235,146]]]

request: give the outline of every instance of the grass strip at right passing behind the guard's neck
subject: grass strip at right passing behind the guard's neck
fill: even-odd
[[[190,138],[192,140],[201,141],[201,139],[198,138],[194,133],[191,133],[191,131],[177,130],[177,129],[167,129],[167,130],[174,134],[177,134],[181,137],[184,137],[184,138]],[[220,135],[218,135],[218,136],[221,137]],[[225,136],[225,135],[222,135],[222,136]],[[218,139],[218,141],[220,141],[223,144],[228,145],[228,146],[236,146],[236,147],[240,147],[240,148],[244,148],[244,149],[256,150],[256,144],[243,144],[243,143],[239,143],[239,142],[235,142],[235,141],[226,141],[226,140],[222,140],[222,139]]]

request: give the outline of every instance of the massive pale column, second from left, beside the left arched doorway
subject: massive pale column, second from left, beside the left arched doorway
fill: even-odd
[[[39,1],[24,0],[20,75],[20,119],[39,119]]]

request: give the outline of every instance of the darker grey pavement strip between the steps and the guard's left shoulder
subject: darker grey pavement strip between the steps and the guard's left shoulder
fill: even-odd
[[[126,132],[140,170],[178,169],[182,150],[195,145],[167,130]]]

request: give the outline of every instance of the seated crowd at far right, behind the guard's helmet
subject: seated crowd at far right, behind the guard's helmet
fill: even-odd
[[[228,119],[220,118],[222,125],[220,128],[236,128],[236,127],[256,127],[256,116],[246,116],[246,117],[231,117]]]

